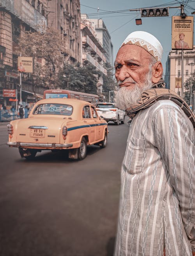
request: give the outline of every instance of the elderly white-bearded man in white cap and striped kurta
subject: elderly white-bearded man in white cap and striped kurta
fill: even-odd
[[[129,34],[115,60],[115,100],[132,121],[121,171],[116,256],[195,251],[195,116],[162,80],[162,46]]]

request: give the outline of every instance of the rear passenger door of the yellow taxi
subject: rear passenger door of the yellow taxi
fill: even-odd
[[[96,136],[96,126],[89,105],[85,105],[82,110],[83,124],[86,125],[87,133],[89,134],[89,143],[93,144]]]

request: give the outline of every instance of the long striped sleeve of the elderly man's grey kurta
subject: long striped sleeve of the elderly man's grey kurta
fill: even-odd
[[[156,144],[179,200],[183,225],[195,251],[195,132],[179,107],[165,107],[153,118]]]

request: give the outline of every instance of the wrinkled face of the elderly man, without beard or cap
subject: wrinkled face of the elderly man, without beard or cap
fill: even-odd
[[[149,71],[151,55],[137,45],[122,46],[115,60],[115,78],[119,87],[142,88]]]

